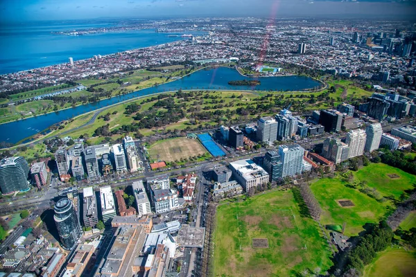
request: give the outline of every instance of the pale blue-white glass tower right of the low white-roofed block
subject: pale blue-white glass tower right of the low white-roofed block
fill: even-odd
[[[279,146],[279,156],[282,163],[282,178],[302,173],[304,151],[304,148],[297,144]]]

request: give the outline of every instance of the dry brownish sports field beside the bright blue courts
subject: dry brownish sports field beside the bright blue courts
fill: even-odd
[[[148,148],[150,161],[180,161],[203,155],[207,150],[196,139],[177,138],[157,141]]]

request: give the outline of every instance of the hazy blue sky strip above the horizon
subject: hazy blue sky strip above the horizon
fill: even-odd
[[[395,17],[416,19],[416,0],[0,0],[0,22],[101,17]]]

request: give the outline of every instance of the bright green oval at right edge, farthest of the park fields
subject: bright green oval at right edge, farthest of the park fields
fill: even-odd
[[[404,190],[412,189],[413,185],[416,185],[415,175],[384,163],[370,163],[369,166],[354,172],[354,177],[359,181],[366,181],[367,186],[376,188],[384,197],[392,195],[396,199],[399,199]]]

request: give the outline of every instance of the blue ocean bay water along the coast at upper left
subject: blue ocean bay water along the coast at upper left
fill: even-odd
[[[0,74],[35,69],[52,64],[83,60],[94,55],[111,53],[174,42],[182,37],[168,37],[155,30],[132,30],[122,33],[91,35],[55,35],[52,31],[109,27],[111,23],[51,24],[2,26],[0,25]],[[187,32],[202,35],[203,32]],[[171,34],[170,34],[171,35]],[[177,34],[183,35],[183,34]]]

